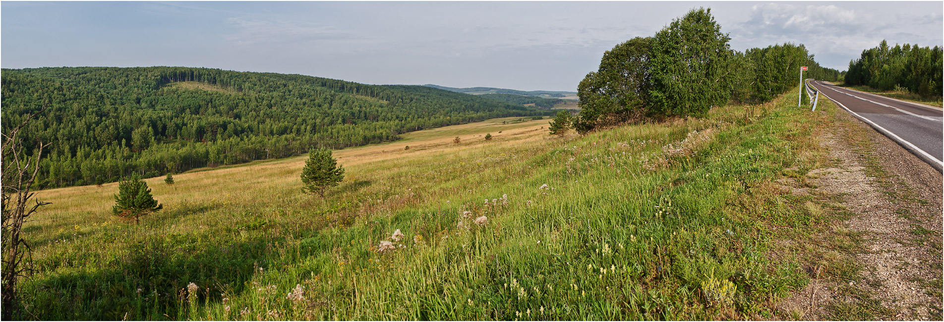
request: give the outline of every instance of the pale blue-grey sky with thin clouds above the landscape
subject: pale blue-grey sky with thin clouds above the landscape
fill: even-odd
[[[936,2],[12,2],[0,67],[190,66],[368,84],[576,91],[603,52],[706,7],[736,50],[803,43],[845,70],[942,45]]]

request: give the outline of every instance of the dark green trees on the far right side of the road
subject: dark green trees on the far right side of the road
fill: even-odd
[[[941,47],[895,44],[882,41],[877,47],[862,51],[859,59],[849,62],[846,84],[867,85],[883,91],[899,90],[924,97],[941,96]]]

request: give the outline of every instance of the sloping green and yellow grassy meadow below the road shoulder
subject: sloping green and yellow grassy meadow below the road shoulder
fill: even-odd
[[[548,120],[412,132],[337,151],[324,199],[300,158],[150,178],[164,210],[141,225],[110,215],[114,184],[42,191],[22,318],[768,317],[806,282],[782,245],[829,219],[781,184],[825,161],[829,103],[796,100],[563,138]]]

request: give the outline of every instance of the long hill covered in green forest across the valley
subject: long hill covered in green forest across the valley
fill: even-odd
[[[399,133],[488,118],[547,114],[423,86],[185,67],[2,70],[4,133],[30,112],[24,144],[43,152],[46,187],[132,172],[283,158],[312,146],[393,141]]]

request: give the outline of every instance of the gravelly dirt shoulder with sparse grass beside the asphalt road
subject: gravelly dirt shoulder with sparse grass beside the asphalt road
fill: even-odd
[[[847,113],[836,116],[820,140],[834,164],[808,177],[851,212],[818,238],[854,242],[813,246],[827,261],[778,304],[781,317],[941,320],[941,174]]]

